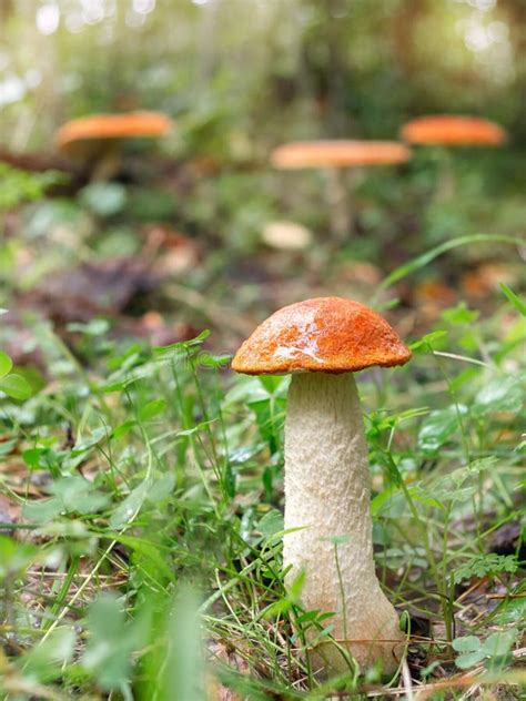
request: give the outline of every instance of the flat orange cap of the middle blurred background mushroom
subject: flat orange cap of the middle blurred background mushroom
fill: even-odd
[[[404,163],[411,155],[397,141],[295,141],[274,149],[271,163],[277,169],[350,167]]]

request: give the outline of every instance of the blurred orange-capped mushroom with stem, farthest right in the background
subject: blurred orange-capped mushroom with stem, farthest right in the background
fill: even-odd
[[[498,146],[506,141],[506,131],[495,122],[478,116],[434,114],[419,116],[404,124],[401,136],[411,144],[435,146]],[[442,174],[436,190],[438,200],[449,199],[455,177],[448,159],[442,159]]]

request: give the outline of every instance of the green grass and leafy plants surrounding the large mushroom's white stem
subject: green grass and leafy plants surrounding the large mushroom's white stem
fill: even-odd
[[[79,332],[87,369],[41,327],[51,377],[0,406],[2,698],[520,698],[522,535],[493,538],[524,516],[525,319],[495,302],[358,376],[378,572],[405,611],[393,679],[323,681],[304,654],[330,629],[283,586],[287,379],[234,377],[206,334],[125,347],[104,325]]]

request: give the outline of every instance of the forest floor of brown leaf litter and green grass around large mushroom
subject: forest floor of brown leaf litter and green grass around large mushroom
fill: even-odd
[[[129,244],[101,212],[51,225],[58,206],[6,215],[3,698],[524,698],[517,240],[392,248],[385,270],[325,244],[225,254],[165,224]],[[326,294],[414,354],[357,376],[377,573],[406,636],[391,678],[310,664],[323,612],[282,575],[289,380],[229,366],[271,311]]]

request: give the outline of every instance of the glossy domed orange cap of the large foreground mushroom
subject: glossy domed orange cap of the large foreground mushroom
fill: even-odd
[[[283,307],[243,343],[232,368],[246,375],[352,373],[404,365],[411,350],[376,312],[342,297]]]

